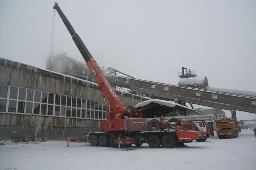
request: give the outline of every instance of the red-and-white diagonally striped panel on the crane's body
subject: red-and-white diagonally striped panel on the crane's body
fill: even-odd
[[[148,130],[148,119],[124,119],[124,130],[144,131]]]

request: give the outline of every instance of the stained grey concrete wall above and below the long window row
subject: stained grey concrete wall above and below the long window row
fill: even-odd
[[[103,102],[94,83],[0,58],[0,83]],[[147,99],[117,91],[125,106],[132,108]],[[0,140],[48,141],[83,137],[100,131],[100,119],[55,117],[31,113],[0,113]]]

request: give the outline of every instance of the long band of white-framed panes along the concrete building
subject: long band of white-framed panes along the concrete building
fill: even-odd
[[[100,101],[5,84],[0,84],[0,92],[0,112],[106,119],[105,103]]]

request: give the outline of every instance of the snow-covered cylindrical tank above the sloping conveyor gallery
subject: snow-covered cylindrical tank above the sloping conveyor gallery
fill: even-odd
[[[196,76],[189,78],[180,78],[179,86],[206,89],[209,84],[206,76]]]

